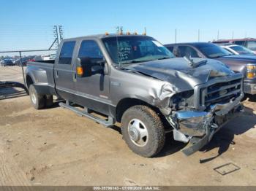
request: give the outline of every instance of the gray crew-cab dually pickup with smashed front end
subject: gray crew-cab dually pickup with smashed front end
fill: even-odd
[[[186,155],[206,145],[241,111],[242,82],[219,61],[174,58],[157,40],[136,34],[64,39],[55,61],[26,69],[34,108],[51,106],[56,95],[65,101],[60,106],[102,125],[121,122],[127,145],[144,157],[157,155],[165,133],[189,142]]]

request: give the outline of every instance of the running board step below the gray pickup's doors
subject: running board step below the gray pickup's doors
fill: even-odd
[[[65,108],[65,109],[69,109],[72,112],[75,112],[76,114],[78,114],[80,116],[88,117],[89,119],[94,120],[95,122],[97,122],[99,124],[105,125],[106,127],[110,127],[110,126],[114,125],[114,123],[115,123],[113,117],[108,116],[108,120],[103,120],[99,117],[94,116],[93,114],[89,114],[88,109],[86,109],[86,108],[83,111],[80,111],[80,109],[70,106],[68,101],[67,101],[67,104],[64,104],[62,102],[59,103],[59,106]]]

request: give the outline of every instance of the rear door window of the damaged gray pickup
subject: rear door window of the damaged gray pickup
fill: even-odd
[[[59,55],[59,64],[71,65],[72,55],[75,48],[75,41],[64,42]]]

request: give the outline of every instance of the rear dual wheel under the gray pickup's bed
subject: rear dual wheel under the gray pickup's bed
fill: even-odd
[[[29,85],[29,97],[34,109],[43,109],[45,107],[45,96],[38,94],[34,85]]]

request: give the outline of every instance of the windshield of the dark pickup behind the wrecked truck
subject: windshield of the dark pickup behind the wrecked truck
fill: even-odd
[[[222,47],[215,44],[208,44],[207,46],[200,46],[198,49],[203,52],[208,58],[219,58],[225,55],[233,55]]]

